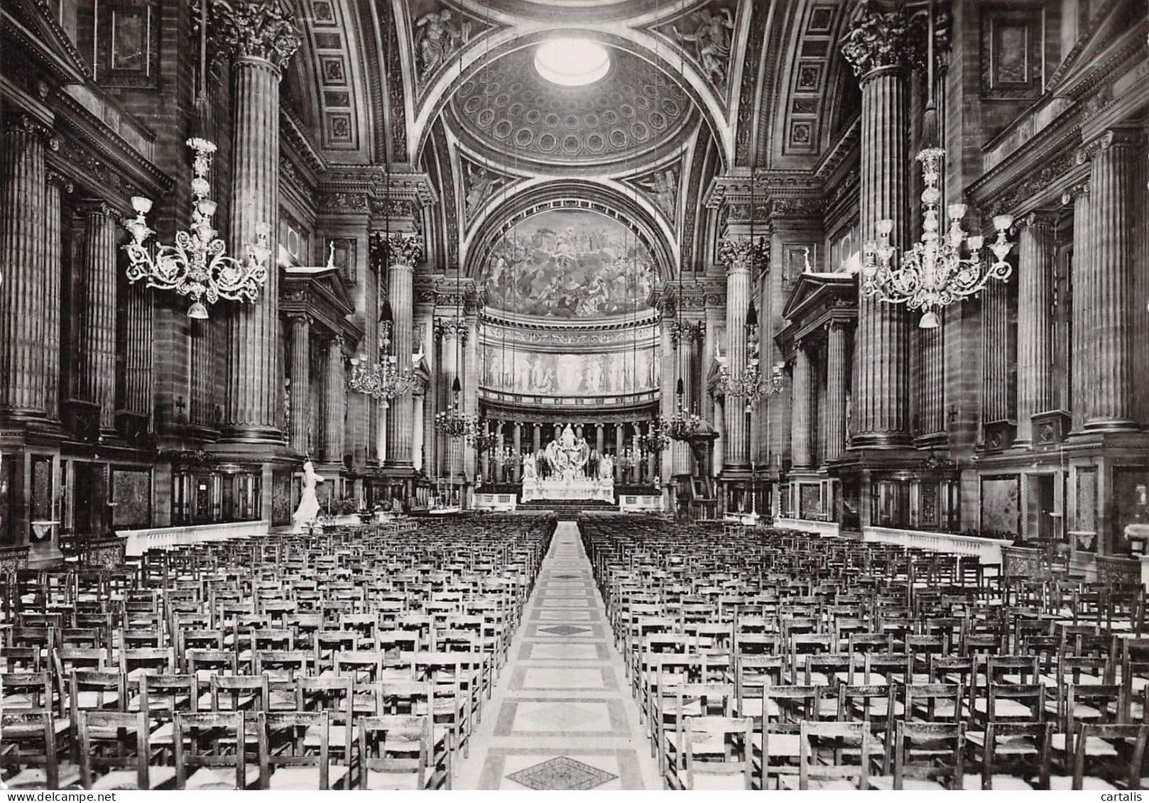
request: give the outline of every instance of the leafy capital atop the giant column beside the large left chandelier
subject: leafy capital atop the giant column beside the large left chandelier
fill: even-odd
[[[193,15],[193,26],[199,18]],[[213,0],[208,38],[215,59],[262,59],[280,69],[300,46],[295,15],[275,0]]]

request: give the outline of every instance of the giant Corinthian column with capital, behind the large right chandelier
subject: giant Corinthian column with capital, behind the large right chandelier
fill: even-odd
[[[862,241],[878,239],[877,224],[892,219],[890,244],[907,241],[905,15],[864,6],[842,43],[842,54],[862,85]],[[854,346],[853,448],[910,445],[909,324],[900,304],[859,292]]]

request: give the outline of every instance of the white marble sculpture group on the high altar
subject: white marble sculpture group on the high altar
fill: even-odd
[[[596,499],[615,501],[615,462],[576,438],[570,424],[545,449],[523,455],[523,501]]]

